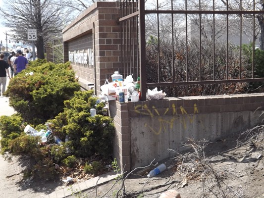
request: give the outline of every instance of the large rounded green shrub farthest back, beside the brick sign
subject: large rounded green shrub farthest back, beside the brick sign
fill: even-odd
[[[33,75],[29,75],[30,72]],[[69,63],[32,61],[27,69],[10,80],[6,96],[10,106],[21,113],[24,120],[37,125],[62,112],[64,100],[71,99],[79,90]]]

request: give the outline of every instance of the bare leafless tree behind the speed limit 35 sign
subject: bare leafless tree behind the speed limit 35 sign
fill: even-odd
[[[27,41],[27,30],[37,30],[38,58],[44,59],[45,45],[61,37],[62,29],[72,20],[69,7],[62,0],[3,0],[0,7],[3,24],[11,28],[9,36],[14,40]]]

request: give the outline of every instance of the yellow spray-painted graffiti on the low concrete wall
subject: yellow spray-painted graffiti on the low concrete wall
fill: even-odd
[[[161,117],[158,109],[155,107],[155,106],[152,106],[153,110],[156,112],[156,114],[158,115],[158,126],[159,127],[153,127],[153,126],[150,126],[148,123],[145,123],[145,127],[149,128],[154,134],[156,135],[159,135],[162,131],[166,132],[167,131],[167,125],[169,125],[169,128],[172,129],[173,128],[173,125],[174,125],[174,121],[176,119],[179,119],[179,117],[177,116],[174,116],[172,117],[170,120],[165,120]],[[167,112],[169,111],[170,108],[166,108],[165,112],[163,113],[163,115],[166,115]],[[154,113],[148,108],[148,105],[145,104],[145,105],[136,105],[135,106],[135,111],[137,113],[140,113],[141,115],[148,115],[148,116],[151,116],[151,117],[154,117]],[[178,115],[177,114],[177,110],[176,110],[176,106],[175,104],[172,104],[172,113],[173,115]],[[194,104],[194,112],[193,112],[193,115],[190,116],[187,111],[184,109],[183,106],[180,106],[180,112],[182,115],[186,115],[186,116],[182,116],[182,119],[180,120],[181,124],[183,125],[184,129],[187,128],[187,122],[189,121],[190,123],[193,123],[194,121],[194,118],[195,118],[195,114],[198,114],[199,111],[198,111],[198,107],[197,107],[197,104]],[[202,122],[201,122],[202,123]]]

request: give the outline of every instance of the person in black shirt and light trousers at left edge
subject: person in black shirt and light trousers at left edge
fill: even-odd
[[[3,93],[5,92],[6,73],[8,74],[8,78],[10,78],[10,74],[8,70],[9,65],[5,60],[3,60],[3,58],[4,58],[4,54],[0,53],[0,96],[3,95]]]

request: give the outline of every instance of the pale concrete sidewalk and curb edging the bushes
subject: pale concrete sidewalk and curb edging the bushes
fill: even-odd
[[[9,80],[6,83],[8,86]],[[15,111],[12,107],[9,106],[9,99],[7,97],[0,97],[0,116],[7,115],[10,116],[14,114]],[[72,192],[68,190],[68,187],[58,187],[54,191],[47,195],[44,192],[35,192],[27,190],[26,188],[21,189],[17,183],[21,180],[22,175],[22,166],[18,162],[16,157],[13,158],[12,162],[4,160],[0,155],[0,197],[4,198],[65,198],[70,196]],[[95,188],[96,183],[98,186],[113,180],[118,175],[114,172],[109,172],[107,174],[89,179],[87,181],[73,184],[72,189],[74,191],[85,191],[91,188]],[[9,178],[9,179],[7,179]],[[12,179],[10,179],[12,178]]]

